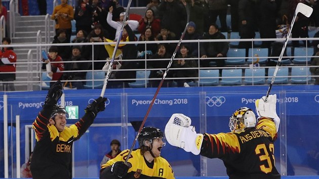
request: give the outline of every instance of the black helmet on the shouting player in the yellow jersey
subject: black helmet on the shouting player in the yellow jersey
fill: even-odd
[[[159,128],[155,127],[144,127],[141,130],[140,135],[138,136],[138,143],[140,146],[144,145],[145,140],[149,140],[152,143],[154,138],[164,138],[163,132]]]

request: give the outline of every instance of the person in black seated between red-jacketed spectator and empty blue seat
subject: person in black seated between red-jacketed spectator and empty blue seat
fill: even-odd
[[[63,72],[63,79],[64,80],[77,80],[77,81],[66,81],[64,87],[69,86],[70,88],[75,87],[76,89],[83,88],[83,80],[86,79],[86,72],[79,71],[79,70],[88,70],[88,62],[81,62],[86,61],[86,59],[82,58],[81,56],[81,47],[73,46],[72,47],[72,56],[70,59],[64,60],[65,68]],[[68,72],[74,71],[74,72]]]

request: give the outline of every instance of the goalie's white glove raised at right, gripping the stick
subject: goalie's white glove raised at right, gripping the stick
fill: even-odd
[[[265,103],[266,97],[262,97],[259,100],[256,100],[256,112],[258,114],[258,118],[260,117],[269,117],[273,118],[274,123],[276,125],[276,131],[278,131],[280,118],[276,113],[276,103],[277,103],[277,96],[276,95],[269,95],[268,100]]]

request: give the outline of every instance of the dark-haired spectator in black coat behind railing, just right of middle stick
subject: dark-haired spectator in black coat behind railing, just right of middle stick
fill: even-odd
[[[196,61],[193,59],[187,58],[194,58],[191,53],[189,53],[189,47],[185,44],[182,44],[180,47],[180,55],[177,56],[177,59],[173,61],[172,68],[195,68],[197,66]],[[190,77],[198,77],[198,73],[194,69],[185,69],[185,70],[174,70],[172,69],[173,77],[179,78],[174,79],[177,81],[177,86],[181,87],[189,87],[188,82],[193,81],[193,79],[185,79]]]

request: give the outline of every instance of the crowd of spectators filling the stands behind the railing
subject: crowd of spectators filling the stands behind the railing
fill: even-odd
[[[132,80],[117,80],[114,82],[114,86],[127,87],[129,82],[134,81],[136,71],[129,69],[146,68],[147,70],[151,70],[149,78],[163,77],[163,70],[158,69],[165,70],[169,61],[163,59],[171,58],[177,43],[163,43],[161,41],[178,40],[181,37],[187,23],[185,6],[189,8],[190,22],[183,38],[184,40],[227,39],[229,38],[229,34],[233,32],[237,32],[241,39],[251,39],[255,38],[257,32],[260,33],[260,38],[276,38],[277,26],[282,24],[289,26],[299,2],[311,6],[313,13],[310,18],[306,18],[300,13],[298,14],[292,31],[292,37],[309,37],[308,26],[319,26],[319,3],[317,1],[150,0],[146,5],[145,15],[139,21],[126,21],[121,41],[156,41],[157,43],[121,44],[118,47],[113,64],[113,69],[118,69],[118,71],[113,71],[111,78]],[[118,0],[78,0],[75,10],[68,5],[67,0],[61,0],[61,4],[54,8],[51,16],[52,20],[56,21],[56,36],[52,43],[115,41],[120,34],[125,18],[124,10],[124,7],[119,4]],[[227,12],[228,14],[230,12],[231,26],[227,26]],[[221,27],[216,25],[218,23],[217,17],[219,18]],[[72,20],[76,22],[76,36],[70,39],[72,35]],[[318,33],[316,33],[316,36],[318,36]],[[313,55],[315,55],[318,51],[316,47],[317,41],[313,40],[313,44],[305,44],[295,40],[292,42],[292,46],[313,46]],[[272,44],[273,41],[262,41],[259,48],[269,49],[268,55],[270,55]],[[92,50],[92,48],[94,49]],[[252,48],[252,42],[241,41],[235,48],[246,49],[246,57],[248,57],[248,49]],[[177,58],[183,60],[174,62],[172,68],[223,67],[225,66],[228,49],[229,44],[227,42],[201,42],[199,46],[197,42],[183,42],[177,53]],[[105,46],[58,46],[57,49],[54,49],[54,53],[57,53],[57,57],[61,59],[62,64],[63,62],[67,63],[63,65],[65,67],[64,71],[62,69],[60,71],[52,71],[53,74],[61,73],[59,77],[52,79],[76,80],[85,78],[85,73],[74,74],[74,72],[68,72],[69,70],[103,69],[107,71],[113,50],[114,45],[109,44]],[[51,51],[53,50],[51,49]],[[49,51],[49,55],[50,53],[53,52]],[[198,57],[200,60],[191,59]],[[72,63],[78,60],[93,60],[94,63]],[[56,67],[52,69],[55,70]],[[220,69],[220,74],[221,71]],[[198,70],[172,70],[168,74],[168,77],[196,78],[198,77]],[[184,83],[189,82],[188,79],[177,79],[174,81],[177,82],[178,86],[187,86]],[[150,85],[155,87],[158,82],[152,80]],[[172,85],[172,81],[167,80],[167,83],[167,86]],[[73,86],[82,88],[82,84]]]

